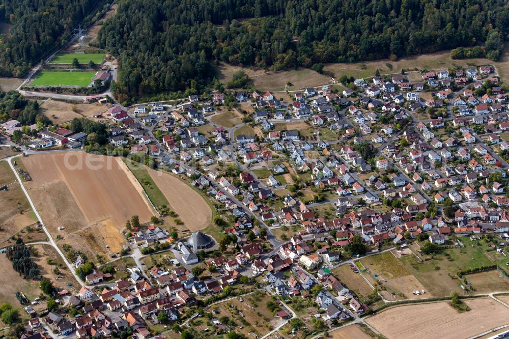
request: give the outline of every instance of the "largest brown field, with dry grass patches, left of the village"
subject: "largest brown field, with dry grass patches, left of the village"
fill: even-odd
[[[33,179],[24,185],[48,231],[76,249],[117,252],[126,220],[138,215],[145,222],[153,215],[142,187],[119,158],[76,151],[20,160]]]

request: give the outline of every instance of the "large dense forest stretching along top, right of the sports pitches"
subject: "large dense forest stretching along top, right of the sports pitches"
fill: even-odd
[[[211,61],[312,67],[427,53],[509,33],[504,0],[119,0],[99,32],[122,61],[117,92],[199,92]]]

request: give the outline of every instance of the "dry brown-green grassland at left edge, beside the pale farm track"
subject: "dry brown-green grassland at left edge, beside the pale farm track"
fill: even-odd
[[[8,189],[0,191],[0,246],[8,245],[8,239],[18,234],[26,227],[34,225],[36,219],[32,213],[29,202],[21,190],[21,186],[7,161],[0,162],[0,186],[9,185]],[[44,240],[45,235],[34,232],[30,235],[38,240]],[[26,234],[19,234],[25,239]],[[28,239],[30,240],[30,239]]]

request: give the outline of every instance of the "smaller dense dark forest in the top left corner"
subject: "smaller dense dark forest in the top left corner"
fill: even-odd
[[[0,0],[0,22],[12,24],[0,36],[0,75],[21,76],[70,38],[81,24],[97,19],[104,0]]]

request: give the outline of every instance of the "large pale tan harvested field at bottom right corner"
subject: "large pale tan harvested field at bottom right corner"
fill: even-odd
[[[366,322],[388,339],[468,338],[509,323],[509,308],[491,298],[465,302],[468,312],[443,301],[393,307]]]

